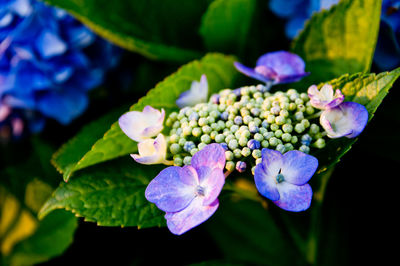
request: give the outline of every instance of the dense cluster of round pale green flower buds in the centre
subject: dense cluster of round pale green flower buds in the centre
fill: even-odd
[[[227,171],[254,171],[263,148],[281,153],[310,153],[325,147],[326,133],[319,126],[319,110],[307,93],[294,89],[270,93],[263,85],[225,89],[208,103],[184,107],[166,120],[167,158],[175,166],[189,165],[192,156],[207,144],[225,149]]]

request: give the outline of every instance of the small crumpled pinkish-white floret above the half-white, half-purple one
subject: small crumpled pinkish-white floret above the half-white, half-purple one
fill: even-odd
[[[308,88],[308,97],[310,97],[311,105],[318,109],[329,109],[338,106],[344,100],[344,95],[339,89],[333,94],[332,85],[324,84],[321,90],[316,85]]]

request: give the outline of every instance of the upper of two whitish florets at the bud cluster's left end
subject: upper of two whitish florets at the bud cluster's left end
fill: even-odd
[[[119,120],[121,130],[134,141],[140,142],[157,136],[163,129],[165,117],[164,109],[161,112],[150,105],[143,108],[142,112],[131,111],[123,114]]]

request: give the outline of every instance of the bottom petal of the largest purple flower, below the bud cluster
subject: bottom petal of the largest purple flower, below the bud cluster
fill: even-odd
[[[203,205],[200,197],[195,198],[190,205],[180,212],[166,213],[168,229],[175,235],[181,235],[193,227],[206,221],[218,209],[219,202],[215,200],[210,205]]]

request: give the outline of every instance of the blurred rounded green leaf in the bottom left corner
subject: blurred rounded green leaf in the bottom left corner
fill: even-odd
[[[76,217],[56,211],[39,222],[35,233],[19,242],[7,259],[10,265],[31,265],[61,255],[72,244]]]

